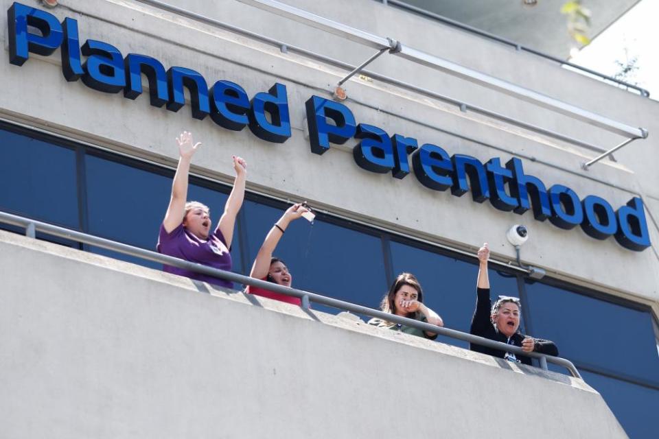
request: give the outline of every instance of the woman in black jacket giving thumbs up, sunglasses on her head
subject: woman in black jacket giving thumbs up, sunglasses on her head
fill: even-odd
[[[472,318],[470,333],[489,338],[496,342],[520,346],[525,352],[537,352],[547,355],[558,355],[556,345],[549,340],[533,338],[520,333],[520,299],[509,296],[499,296],[492,305],[489,298],[489,277],[487,276],[487,260],[489,248],[487,243],[478,250],[478,282],[476,284],[476,310]],[[514,353],[487,348],[478,344],[470,344],[472,351],[504,358],[510,361],[531,365],[531,358]]]

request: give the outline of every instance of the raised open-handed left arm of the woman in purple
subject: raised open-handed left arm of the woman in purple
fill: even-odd
[[[178,143],[178,167],[176,167],[176,174],[174,174],[174,182],[172,182],[172,196],[170,198],[170,205],[167,206],[165,212],[165,219],[163,219],[163,226],[167,233],[172,233],[176,227],[183,222],[183,210],[185,209],[185,202],[187,200],[187,178],[190,172],[190,162],[192,156],[201,145],[201,142],[194,143],[192,140],[192,133],[184,131],[176,137]]]

